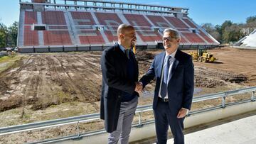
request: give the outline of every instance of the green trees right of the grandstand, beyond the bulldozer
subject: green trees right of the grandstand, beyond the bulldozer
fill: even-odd
[[[225,21],[221,26],[203,23],[202,27],[220,43],[237,42],[256,28],[256,16],[246,18],[246,23]]]

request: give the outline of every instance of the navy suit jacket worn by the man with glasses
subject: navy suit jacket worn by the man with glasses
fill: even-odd
[[[151,67],[139,81],[145,87],[152,79],[156,78],[156,88],[154,91],[153,109],[159,96],[161,83],[161,71],[163,70],[165,52],[156,55]],[[169,109],[171,113],[177,114],[181,108],[191,109],[194,87],[194,69],[191,55],[177,50],[175,60],[171,68],[171,74],[167,83],[167,93],[169,97]]]

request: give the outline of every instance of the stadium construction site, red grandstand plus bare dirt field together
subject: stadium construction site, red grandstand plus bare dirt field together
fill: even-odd
[[[164,28],[171,27],[181,33],[179,49],[196,55],[191,54],[195,70],[194,97],[256,85],[256,50],[220,46],[188,17],[188,9],[106,1],[73,3],[20,1],[19,53],[0,59],[1,128],[99,113],[100,57],[102,50],[117,42],[116,29],[120,23],[131,23],[136,28],[139,78],[149,69],[154,56],[164,52],[161,33]],[[111,11],[105,7],[109,4]],[[207,50],[203,51],[206,55],[198,48]],[[139,106],[152,104],[154,87],[155,81],[140,93]],[[250,94],[239,94],[225,101],[236,102],[250,97]],[[191,111],[218,106],[221,101],[196,102]],[[154,120],[152,111],[146,112],[143,120]],[[135,116],[134,123],[137,121],[140,119]],[[102,120],[79,126],[82,133],[103,128]],[[71,124],[11,133],[0,135],[0,143],[31,143],[72,135],[76,131],[75,124]]]

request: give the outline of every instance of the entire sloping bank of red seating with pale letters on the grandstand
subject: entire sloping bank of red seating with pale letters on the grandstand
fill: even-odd
[[[65,14],[68,17],[70,16],[69,13],[71,18],[66,19]],[[160,30],[165,28],[178,30],[181,32],[181,44],[183,45],[197,45],[198,43],[205,45],[218,44],[209,35],[203,33],[200,27],[194,24],[188,17],[176,18],[174,16],[132,13],[119,13],[122,15],[119,16],[117,13],[102,11],[95,11],[93,13],[95,17],[88,11],[70,11],[68,13],[64,13],[64,11],[25,11],[23,35],[19,35],[20,38],[23,38],[23,45],[20,46],[33,47],[45,45],[48,48],[48,46],[54,47],[54,45],[59,47],[59,45],[82,44],[85,46],[98,46],[94,44],[109,44],[117,42],[117,28],[119,24],[125,21],[128,21],[136,29],[137,35],[142,40],[137,40],[139,45],[144,45],[144,43],[156,45],[156,41],[161,43],[162,31],[155,31],[153,26],[159,27]],[[40,15],[42,19],[38,20]],[[42,23],[38,23],[38,21],[42,21]],[[32,31],[33,24],[45,24],[47,29],[46,31]],[[73,26],[68,26],[70,24]],[[98,28],[104,28],[103,31],[98,31],[97,26],[99,26]],[[198,33],[192,33],[191,28],[195,28]],[[72,34],[70,35],[70,33]],[[107,38],[102,37],[103,33],[105,33]],[[44,41],[39,42],[39,40]],[[75,41],[78,41],[78,43],[74,43]]]

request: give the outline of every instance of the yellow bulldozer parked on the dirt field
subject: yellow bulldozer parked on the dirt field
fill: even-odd
[[[213,54],[207,52],[205,48],[198,48],[197,52],[188,52],[189,55],[193,57],[193,60],[198,60],[198,62],[214,62],[218,60],[213,57]]]

